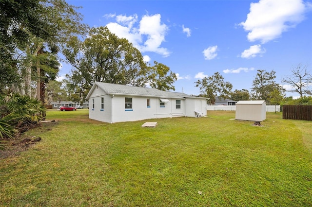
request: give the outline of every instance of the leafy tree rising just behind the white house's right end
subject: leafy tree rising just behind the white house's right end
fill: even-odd
[[[228,98],[231,94],[232,84],[224,82],[219,72],[214,75],[197,80],[195,86],[199,87],[200,95],[209,98],[208,104],[215,104],[215,97]]]

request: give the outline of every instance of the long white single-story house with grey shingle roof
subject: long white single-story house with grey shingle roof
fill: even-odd
[[[109,123],[207,114],[207,98],[156,88],[96,82],[86,99],[89,118]]]

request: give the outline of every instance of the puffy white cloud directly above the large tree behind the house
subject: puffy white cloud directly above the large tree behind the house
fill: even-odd
[[[134,26],[138,21],[136,14],[129,17],[118,15],[116,21],[108,23],[108,29],[118,37],[128,39],[140,52],[156,52],[164,57],[170,55],[171,52],[160,47],[169,30],[166,24],[161,23],[160,14],[143,16],[137,27]]]

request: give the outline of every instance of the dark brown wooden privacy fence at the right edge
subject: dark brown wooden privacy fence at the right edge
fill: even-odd
[[[283,105],[283,119],[312,121],[312,105]]]

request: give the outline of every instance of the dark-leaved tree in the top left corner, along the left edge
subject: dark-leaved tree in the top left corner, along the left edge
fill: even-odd
[[[49,24],[39,18],[39,0],[0,0],[0,89],[20,83],[17,48],[23,50],[30,34],[46,35]]]

